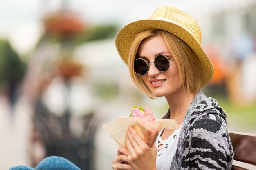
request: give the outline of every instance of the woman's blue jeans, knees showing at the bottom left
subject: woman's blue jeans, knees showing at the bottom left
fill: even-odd
[[[36,169],[30,168],[29,166],[14,166],[9,170],[81,170],[75,166],[72,162],[65,158],[51,156],[43,159]]]

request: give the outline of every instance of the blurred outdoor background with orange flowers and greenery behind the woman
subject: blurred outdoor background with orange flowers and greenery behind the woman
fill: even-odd
[[[164,98],[133,85],[115,48],[126,24],[170,5],[191,14],[215,74],[203,88],[231,131],[256,133],[256,0],[0,0],[0,167],[50,155],[110,170],[117,144],[102,129],[132,106],[157,119]]]

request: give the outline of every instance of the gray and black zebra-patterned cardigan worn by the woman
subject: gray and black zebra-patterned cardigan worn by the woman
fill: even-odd
[[[199,91],[184,117],[170,170],[231,170],[233,150],[226,118],[216,99]]]

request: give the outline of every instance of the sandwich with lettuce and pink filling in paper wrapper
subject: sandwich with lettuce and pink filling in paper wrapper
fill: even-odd
[[[174,130],[180,128],[175,120],[159,119],[156,121],[150,108],[146,107],[146,109],[143,109],[141,106],[137,107],[137,105],[135,105],[129,117],[119,116],[111,124],[103,125],[103,129],[119,146],[126,148],[126,130],[129,126],[135,128],[140,137],[149,146],[153,141],[152,137],[148,135],[148,128],[145,128],[145,126],[152,126],[157,130],[160,130],[162,127]]]

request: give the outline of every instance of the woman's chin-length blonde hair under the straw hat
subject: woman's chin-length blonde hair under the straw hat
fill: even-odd
[[[131,44],[128,59],[128,68],[130,71],[130,77],[135,83],[137,88],[146,93],[149,98],[155,99],[155,96],[146,86],[140,75],[137,75],[133,69],[134,60],[137,57],[137,51],[142,42],[149,40],[157,35],[161,35],[168,47],[168,50],[172,54],[175,62],[177,63],[180,88],[186,88],[187,92],[197,93],[201,88],[200,78],[200,66],[198,58],[191,48],[183,42],[180,38],[176,37],[172,33],[159,29],[148,29],[137,34]]]

